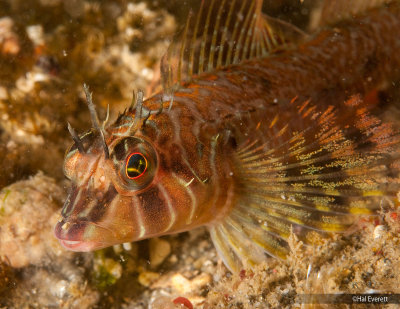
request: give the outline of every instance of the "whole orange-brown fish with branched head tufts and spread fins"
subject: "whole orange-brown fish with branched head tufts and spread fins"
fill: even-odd
[[[400,134],[371,94],[400,76],[400,5],[335,2],[306,34],[261,0],[201,1],[161,61],[162,88],[112,124],[85,85],[92,129],[68,125],[60,243],[86,252],[205,226],[237,271],[285,259],[291,235],[319,244],[396,204]]]

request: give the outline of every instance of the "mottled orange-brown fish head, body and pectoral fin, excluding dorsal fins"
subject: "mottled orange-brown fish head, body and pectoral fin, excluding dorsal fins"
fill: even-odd
[[[382,196],[394,196],[398,189],[384,184],[389,173],[384,166],[393,164],[388,153],[398,150],[399,138],[390,125],[369,115],[362,98],[400,76],[400,39],[393,29],[400,29],[397,2],[323,30],[296,48],[194,76],[173,94],[145,100],[144,109],[153,113],[136,117],[132,136],[137,109],[106,128],[110,158],[95,130],[80,137],[85,153],[73,145],[65,159],[73,184],[56,236],[68,249],[90,251],[208,226],[225,263],[234,269],[234,258],[229,260],[220,239],[233,241],[221,235],[228,228],[236,229],[230,235],[240,231],[235,220],[246,217],[245,205],[248,220],[259,217],[264,206],[251,206],[259,203],[257,196],[270,199],[266,209],[278,218],[275,223],[286,217],[280,226],[270,222],[264,229],[274,234],[276,244],[259,246],[278,257],[286,254],[289,223],[306,239],[310,228],[340,231],[351,225],[347,214],[357,213],[357,203],[363,205],[360,213],[373,212]],[[269,157],[263,157],[265,149],[271,150]],[[136,152],[149,160],[143,183],[121,176],[128,156]],[[339,163],[340,158],[346,162]],[[276,164],[267,166],[268,160]],[[328,163],[319,162],[329,162],[329,171]],[[282,174],[279,166],[284,166]],[[368,169],[376,171],[374,180],[361,177]],[[324,170],[323,176],[318,170]],[[259,192],[257,182],[264,188]],[[288,202],[285,195],[295,193]],[[352,205],[335,209],[352,196],[357,197]],[[288,212],[279,213],[273,199],[285,200],[282,209]],[[305,215],[295,209],[291,216],[290,207],[299,203],[308,207]],[[325,203],[325,210],[318,203]],[[331,224],[319,224],[324,218]],[[241,233],[260,242],[249,231]],[[236,255],[253,259],[239,249]]]

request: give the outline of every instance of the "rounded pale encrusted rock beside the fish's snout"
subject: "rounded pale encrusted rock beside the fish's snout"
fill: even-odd
[[[53,235],[63,190],[39,173],[0,192],[0,252],[14,268],[51,263],[65,253]]]

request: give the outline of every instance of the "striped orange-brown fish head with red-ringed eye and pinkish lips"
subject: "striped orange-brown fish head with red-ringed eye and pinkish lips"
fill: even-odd
[[[84,152],[74,144],[66,153],[72,185],[55,227],[60,243],[92,251],[193,227],[208,186],[193,181],[179,149],[145,132],[107,136],[108,156],[95,130],[80,138]]]

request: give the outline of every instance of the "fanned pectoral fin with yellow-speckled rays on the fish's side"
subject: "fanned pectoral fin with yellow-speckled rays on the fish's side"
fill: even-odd
[[[400,133],[359,97],[340,109],[300,100],[288,109],[273,125],[258,125],[268,111],[238,120],[247,131],[233,155],[234,205],[214,227],[234,252],[231,269],[257,263],[260,249],[285,258],[292,233],[307,245],[344,232],[400,189]]]

